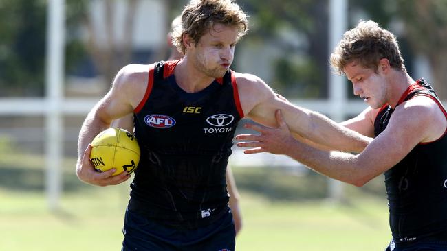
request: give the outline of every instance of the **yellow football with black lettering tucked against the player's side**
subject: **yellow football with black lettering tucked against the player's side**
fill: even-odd
[[[109,128],[91,141],[90,160],[96,171],[115,168],[113,175],[133,172],[140,162],[140,146],[135,136],[121,128]]]

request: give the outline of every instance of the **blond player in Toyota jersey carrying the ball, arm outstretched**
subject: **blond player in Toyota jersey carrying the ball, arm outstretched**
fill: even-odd
[[[120,184],[129,179],[127,171],[96,171],[90,143],[113,119],[134,114],[141,156],[124,220],[124,251],[235,250],[225,174],[243,117],[275,127],[274,112],[281,109],[292,132],[349,152],[360,152],[370,140],[281,100],[259,77],[230,69],[235,45],[248,30],[237,3],[191,0],[181,23],[173,41],[184,58],[123,67],[80,130],[78,178]]]

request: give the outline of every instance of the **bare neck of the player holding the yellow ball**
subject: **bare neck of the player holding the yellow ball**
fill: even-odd
[[[215,80],[214,77],[199,71],[186,57],[179,61],[174,75],[177,85],[187,93],[197,93]]]

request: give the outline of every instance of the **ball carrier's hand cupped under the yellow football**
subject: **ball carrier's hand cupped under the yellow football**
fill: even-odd
[[[130,174],[127,171],[123,171],[121,174],[112,176],[116,169],[112,168],[104,172],[98,172],[90,162],[91,145],[89,144],[84,152],[83,158],[78,161],[76,166],[76,175],[83,182],[94,184],[100,187],[109,186],[111,184],[120,184],[129,178]]]

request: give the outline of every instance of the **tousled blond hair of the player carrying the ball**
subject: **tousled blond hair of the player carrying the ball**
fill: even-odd
[[[191,0],[182,12],[181,25],[173,30],[173,44],[185,53],[184,34],[193,38],[197,45],[201,36],[216,23],[237,27],[238,39],[248,31],[248,16],[232,0]]]

